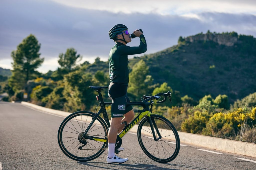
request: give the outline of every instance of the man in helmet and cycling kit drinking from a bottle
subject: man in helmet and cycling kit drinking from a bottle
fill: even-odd
[[[140,37],[138,47],[126,46],[132,39],[128,28],[123,24],[117,24],[109,31],[110,39],[116,43],[109,53],[109,78],[110,85],[108,89],[109,97],[112,99],[111,105],[111,125],[108,132],[108,156],[107,163],[124,163],[128,158],[122,159],[115,155],[115,142],[117,134],[122,131],[127,124],[132,121],[134,111],[132,106],[126,107],[126,102],[130,102],[127,96],[127,87],[129,83],[129,69],[127,55],[145,53],[147,44],[141,31],[135,30],[134,35]],[[124,115],[124,118],[123,118]],[[118,148],[119,151],[124,148]]]

